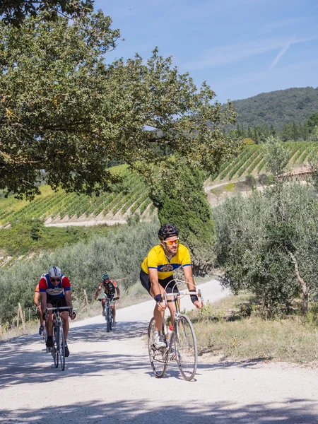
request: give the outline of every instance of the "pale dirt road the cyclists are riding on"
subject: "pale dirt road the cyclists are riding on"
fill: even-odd
[[[224,295],[215,281],[202,290]],[[175,363],[155,379],[145,338],[152,310],[151,300],[117,311],[112,334],[101,316],[74,323],[64,372],[35,335],[0,343],[0,423],[318,423],[317,369],[205,356],[193,382]]]

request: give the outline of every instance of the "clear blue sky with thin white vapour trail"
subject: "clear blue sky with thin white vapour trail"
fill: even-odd
[[[318,86],[318,0],[95,0],[124,42],[108,54],[172,56],[220,102]]]

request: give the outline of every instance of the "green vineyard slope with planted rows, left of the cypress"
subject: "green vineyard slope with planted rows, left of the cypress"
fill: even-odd
[[[49,186],[40,187],[40,196],[33,201],[15,199],[14,196],[0,199],[0,225],[6,226],[16,221],[39,218],[45,223],[67,223],[71,221],[114,220],[125,221],[138,212],[141,217],[153,213],[153,205],[148,196],[148,187],[139,175],[129,172],[124,165],[116,167],[123,177],[121,187],[114,192],[100,196],[66,193],[64,190],[53,192]]]

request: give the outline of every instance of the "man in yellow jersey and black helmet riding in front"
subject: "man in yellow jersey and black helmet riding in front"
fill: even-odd
[[[163,301],[164,290],[167,293],[172,293],[172,290],[176,293],[178,291],[177,285],[173,281],[173,271],[179,268],[179,266],[182,266],[189,290],[196,291],[192,275],[190,253],[187,247],[179,245],[178,235],[179,230],[175,225],[163,225],[158,231],[160,245],[153,247],[141,264],[141,284],[157,302],[153,311],[155,330],[158,331],[155,337],[155,348],[157,349],[165,347],[165,341],[161,331],[167,306],[170,310],[170,324],[173,324],[172,319],[175,305],[173,302],[168,302],[166,305]],[[191,295],[191,300],[197,308],[201,309],[203,307],[202,302],[195,294]]]

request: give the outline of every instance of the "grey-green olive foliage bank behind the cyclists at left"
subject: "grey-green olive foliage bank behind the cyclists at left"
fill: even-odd
[[[121,280],[119,287],[127,290],[139,280],[141,262],[158,242],[158,225],[155,220],[110,228],[105,236],[96,235],[88,241],[45,252],[42,257],[15,264],[10,269],[0,269],[1,323],[11,324],[18,302],[23,309],[33,307],[35,285],[52,265],[59,266],[70,278],[74,300],[83,299],[84,289],[91,299],[105,271],[115,280]]]

